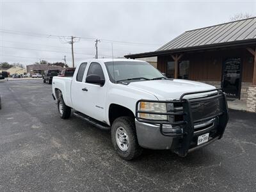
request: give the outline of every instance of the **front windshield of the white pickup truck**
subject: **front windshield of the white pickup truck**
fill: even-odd
[[[111,82],[145,81],[166,79],[156,68],[147,62],[141,61],[109,61],[105,62]]]

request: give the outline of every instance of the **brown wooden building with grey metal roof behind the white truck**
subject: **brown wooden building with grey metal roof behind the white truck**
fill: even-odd
[[[256,111],[256,17],[185,31],[156,51],[125,55],[148,57],[157,57],[167,77],[214,84]]]

